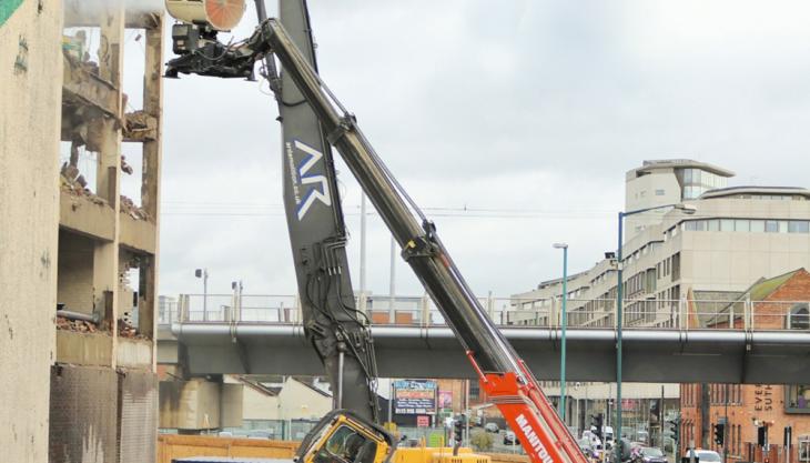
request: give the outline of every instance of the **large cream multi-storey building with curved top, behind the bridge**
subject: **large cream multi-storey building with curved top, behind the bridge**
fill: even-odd
[[[626,177],[622,246],[625,322],[672,326],[688,322],[687,300],[725,306],[753,281],[810,268],[810,190],[728,187],[731,171],[692,160],[645,161]],[[689,214],[670,204],[693,207]],[[612,251],[612,250],[611,250]],[[568,280],[568,323],[614,324],[615,253]],[[512,324],[554,323],[561,280],[513,295]]]

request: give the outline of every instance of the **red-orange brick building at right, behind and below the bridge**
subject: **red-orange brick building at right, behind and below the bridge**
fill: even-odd
[[[700,308],[691,308],[702,325],[736,329],[807,330],[810,273],[804,269],[771,279],[760,279],[739,296],[750,301],[751,315],[746,320],[740,304],[729,304],[716,314],[701,316]],[[808,368],[798,364],[797,368]],[[787,462],[783,447],[786,426],[792,427],[790,462],[807,462],[810,440],[810,385],[793,384],[681,384],[681,452],[690,444],[722,453],[713,443],[712,426],[727,419],[726,449],[729,461],[765,461],[757,446],[758,426],[768,427],[769,462]],[[706,417],[705,417],[706,415]],[[801,444],[800,444],[801,443]]]

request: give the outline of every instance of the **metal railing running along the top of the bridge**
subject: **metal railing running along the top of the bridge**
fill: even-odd
[[[479,298],[489,318],[499,325],[560,328],[559,299]],[[356,306],[372,324],[404,326],[446,325],[426,296],[360,296]],[[616,300],[569,299],[570,328],[616,328]],[[624,328],[671,330],[810,330],[810,301],[750,300],[622,300]],[[160,323],[283,323],[303,321],[298,298],[291,294],[181,294],[162,303]]]

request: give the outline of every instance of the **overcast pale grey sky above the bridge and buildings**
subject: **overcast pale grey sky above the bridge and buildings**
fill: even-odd
[[[236,36],[250,33],[252,2]],[[271,13],[275,6],[267,3]],[[312,0],[321,73],[482,295],[615,248],[624,175],[692,158],[807,187],[810,3]],[[168,43],[166,59],[171,57]],[[165,81],[161,293],[292,294],[280,127],[257,83]],[[266,90],[266,85],[264,88]],[[360,189],[338,165],[355,286]],[[466,208],[466,212],[464,211]],[[367,289],[389,234],[368,220]],[[397,262],[397,292],[421,294]]]

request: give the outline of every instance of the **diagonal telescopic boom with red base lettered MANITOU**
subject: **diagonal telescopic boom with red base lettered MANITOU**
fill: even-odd
[[[229,67],[230,60],[233,66],[223,74],[245,76],[243,63],[250,61],[246,57],[255,61],[270,52],[281,61],[317,115],[330,143],[337,149],[379,212],[403,249],[402,256],[466,349],[482,387],[509,422],[530,460],[536,463],[586,463],[585,455],[535,378],[462,278],[436,234],[435,225],[394,179],[361,132],[354,115],[328,91],[279,21],[262,22],[243,48],[233,50],[233,60],[227,57],[217,66]],[[178,71],[195,72],[193,68],[169,64],[168,73],[176,74]]]

